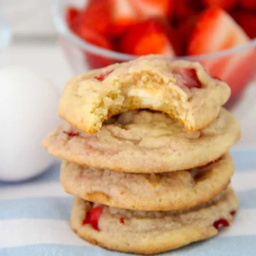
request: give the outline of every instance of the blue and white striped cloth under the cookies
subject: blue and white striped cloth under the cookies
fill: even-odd
[[[240,199],[234,225],[219,236],[164,256],[256,256],[256,150],[233,150],[233,187]],[[72,197],[59,183],[59,162],[22,183],[0,183],[0,256],[126,255],[92,246],[69,227]]]

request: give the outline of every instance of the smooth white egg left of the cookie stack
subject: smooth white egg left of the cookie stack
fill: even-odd
[[[0,180],[25,180],[54,161],[42,140],[60,123],[60,95],[31,70],[14,66],[0,69],[0,88]]]

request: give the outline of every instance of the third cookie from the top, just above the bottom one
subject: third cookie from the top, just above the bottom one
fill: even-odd
[[[180,210],[217,196],[233,173],[230,154],[204,167],[161,174],[128,174],[64,161],[60,181],[67,193],[110,207]]]

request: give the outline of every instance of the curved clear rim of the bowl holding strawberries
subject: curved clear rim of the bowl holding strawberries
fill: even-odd
[[[74,34],[68,27],[67,23],[64,20],[64,17],[62,15],[62,7],[63,5],[68,2],[67,0],[54,0],[52,3],[52,13],[53,13],[53,22],[55,25],[55,28],[57,29],[58,33],[60,33],[62,36],[68,38],[71,42],[79,46],[85,51],[94,53],[96,55],[103,55],[104,57],[108,57],[111,59],[118,59],[118,60],[133,60],[138,58],[137,55],[132,54],[126,54],[126,53],[120,53],[113,50],[108,50],[102,47],[95,46],[94,44],[91,44],[89,42],[86,42],[85,40],[78,37],[76,34]],[[209,58],[219,58],[231,55],[233,53],[242,52],[243,50],[250,49],[256,47],[256,38],[252,39],[250,42],[242,44],[240,46],[222,50],[219,52],[214,53],[207,53],[207,54],[199,54],[199,55],[185,55],[185,56],[178,56],[175,58],[171,58],[172,60],[205,60]]]

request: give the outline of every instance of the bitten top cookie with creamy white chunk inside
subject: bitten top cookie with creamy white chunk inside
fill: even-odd
[[[94,133],[116,114],[148,108],[167,113],[194,131],[216,118],[229,97],[229,86],[208,75],[201,64],[149,55],[68,81],[59,116]]]

